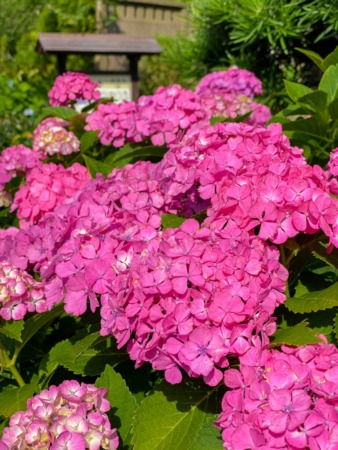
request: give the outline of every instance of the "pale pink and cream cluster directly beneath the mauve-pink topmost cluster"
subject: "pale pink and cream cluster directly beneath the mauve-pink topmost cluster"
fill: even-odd
[[[201,95],[200,100],[210,116],[224,117],[229,121],[250,112],[251,114],[244,122],[249,125],[264,126],[272,117],[267,106],[256,103],[244,95],[209,93]]]

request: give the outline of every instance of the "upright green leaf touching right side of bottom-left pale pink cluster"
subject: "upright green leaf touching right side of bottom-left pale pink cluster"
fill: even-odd
[[[135,397],[129,391],[121,375],[110,366],[106,366],[102,375],[95,382],[96,387],[105,387],[108,400],[114,411],[111,418],[112,427],[118,428],[123,444],[129,444],[134,412],[137,407]]]

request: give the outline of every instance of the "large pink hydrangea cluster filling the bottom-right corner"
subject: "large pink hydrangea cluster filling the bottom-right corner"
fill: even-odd
[[[218,421],[225,449],[338,448],[336,346],[253,347],[240,362],[224,374],[231,388]]]

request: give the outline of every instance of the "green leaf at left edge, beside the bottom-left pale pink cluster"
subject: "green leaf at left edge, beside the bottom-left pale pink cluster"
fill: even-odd
[[[27,409],[27,400],[34,394],[36,385],[25,384],[21,388],[5,388],[0,392],[0,415],[10,417]]]

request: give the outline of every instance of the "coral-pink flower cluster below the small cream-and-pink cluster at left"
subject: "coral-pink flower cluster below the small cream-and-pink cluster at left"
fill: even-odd
[[[20,227],[27,228],[38,222],[48,211],[73,197],[89,179],[88,170],[78,163],[67,169],[53,163],[35,167],[27,176],[26,184],[15,194],[12,204],[11,210],[17,210]]]

